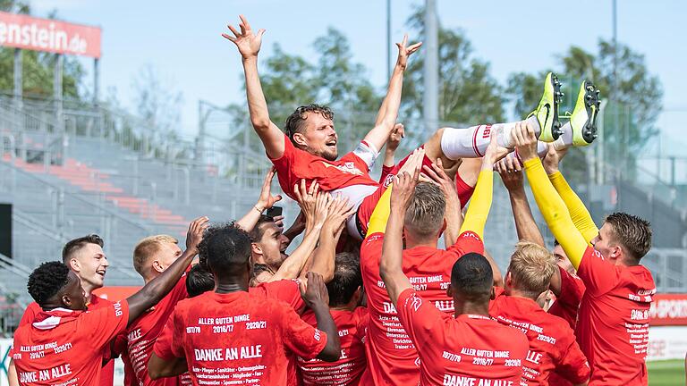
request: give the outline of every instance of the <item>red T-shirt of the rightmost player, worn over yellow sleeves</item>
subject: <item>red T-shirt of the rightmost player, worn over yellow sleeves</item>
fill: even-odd
[[[577,274],[587,288],[575,332],[589,359],[589,385],[646,385],[651,273],[643,265],[611,264],[588,247]]]

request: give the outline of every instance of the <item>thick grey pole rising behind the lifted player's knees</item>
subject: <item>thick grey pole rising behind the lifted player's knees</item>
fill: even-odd
[[[434,132],[439,124],[439,44],[438,44],[437,1],[425,1],[425,95],[422,104],[422,115],[425,119],[425,130]]]

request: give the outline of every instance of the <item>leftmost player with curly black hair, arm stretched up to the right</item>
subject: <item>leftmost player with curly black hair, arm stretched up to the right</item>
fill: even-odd
[[[130,298],[93,311],[86,306],[81,280],[64,263],[38,266],[28,287],[42,311],[14,333],[20,384],[98,384],[110,341],[172,290],[192,258],[182,255]]]

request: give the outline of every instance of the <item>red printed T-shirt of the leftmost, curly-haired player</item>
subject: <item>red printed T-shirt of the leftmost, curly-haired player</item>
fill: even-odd
[[[89,311],[39,312],[14,332],[13,360],[20,384],[98,384],[103,351],[124,331],[128,318],[125,300]]]

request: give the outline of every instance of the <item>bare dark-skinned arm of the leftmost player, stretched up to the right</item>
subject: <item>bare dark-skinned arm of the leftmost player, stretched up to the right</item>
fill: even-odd
[[[198,244],[203,238],[203,231],[208,228],[208,221],[208,217],[205,216],[193,220],[186,234],[187,248],[182,256],[179,256],[164,273],[148,281],[148,284],[144,285],[142,289],[126,299],[129,304],[128,324],[131,324],[131,322],[136,320],[136,318],[143,314],[148,308],[155,306],[157,302],[165,298],[165,295],[174,288],[174,285],[176,285],[182,277],[186,268],[191,264],[193,257],[198,254]]]

